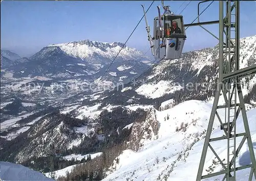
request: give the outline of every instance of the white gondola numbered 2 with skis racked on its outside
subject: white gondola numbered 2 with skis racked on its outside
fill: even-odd
[[[158,17],[154,18],[153,38],[150,34],[150,27],[147,24],[144,6],[141,5],[144,11],[146,22],[146,31],[148,41],[150,41],[152,55],[155,59],[176,59],[180,58],[182,49],[186,40],[185,28],[182,15],[175,15],[169,10],[169,6],[163,5],[163,15],[158,8]],[[162,26],[164,25],[164,26]]]

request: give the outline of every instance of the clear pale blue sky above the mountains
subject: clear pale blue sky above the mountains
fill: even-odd
[[[189,3],[165,1],[180,13]],[[28,56],[51,43],[90,39],[102,42],[125,42],[152,1],[3,1],[1,3],[1,49]],[[155,1],[147,13],[153,29],[157,16]],[[182,12],[185,24],[197,17],[198,1],[192,1]],[[204,9],[209,2],[201,5]],[[182,5],[181,8],[179,8]],[[240,36],[256,34],[256,2],[241,2]],[[161,9],[162,10],[162,9]],[[218,20],[219,2],[214,2],[200,17],[201,21]],[[205,26],[219,36],[218,25]],[[153,31],[152,31],[153,34]],[[184,51],[215,46],[218,41],[200,27],[189,27]],[[144,19],[127,42],[142,52],[149,49]],[[149,52],[150,53],[150,52]]]

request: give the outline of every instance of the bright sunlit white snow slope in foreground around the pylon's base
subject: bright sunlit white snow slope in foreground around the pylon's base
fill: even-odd
[[[211,104],[203,101],[190,100],[164,111],[156,110],[156,119],[160,128],[158,134],[151,140],[144,140],[138,152],[124,150],[118,157],[119,163],[114,161],[103,180],[196,180],[204,135],[208,125]],[[218,110],[223,117],[224,110]],[[164,121],[168,115],[169,119]],[[256,108],[247,111],[254,153],[256,153]],[[181,124],[186,128],[180,129]],[[133,128],[132,128],[133,129]],[[237,133],[243,132],[244,126],[241,114],[237,121]],[[211,138],[221,137],[219,121],[216,118]],[[238,137],[237,147],[242,140]],[[221,160],[226,157],[226,140],[211,142]],[[203,174],[220,171],[218,161],[208,148]],[[226,161],[224,161],[225,164]],[[242,147],[237,160],[237,166],[250,164],[247,141]],[[206,170],[211,168],[210,172]],[[237,171],[237,180],[248,180],[250,170]],[[222,179],[224,175],[216,176]],[[214,179],[209,179],[214,180]]]

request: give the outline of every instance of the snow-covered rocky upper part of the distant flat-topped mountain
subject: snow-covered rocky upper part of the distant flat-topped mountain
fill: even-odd
[[[116,58],[116,61],[150,60],[144,53],[135,48],[127,47],[121,42],[107,43],[87,39],[68,43],[50,44],[48,47],[59,47],[68,55],[81,58],[90,63],[109,64],[114,60],[122,47],[123,49]]]

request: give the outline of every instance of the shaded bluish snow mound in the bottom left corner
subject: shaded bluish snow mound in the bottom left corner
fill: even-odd
[[[44,174],[19,164],[0,162],[1,180],[53,180]]]

